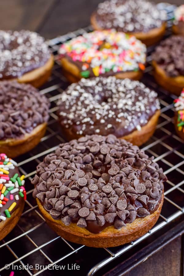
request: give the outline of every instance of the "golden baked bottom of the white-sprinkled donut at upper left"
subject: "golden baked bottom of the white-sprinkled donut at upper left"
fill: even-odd
[[[19,83],[29,83],[34,87],[40,87],[50,77],[53,65],[54,65],[54,56],[51,55],[51,57],[43,66],[37,69],[34,69],[33,71],[30,71],[28,73],[25,73],[20,78],[17,78],[17,79],[15,78],[10,80],[16,80]],[[3,80],[5,79],[2,79],[2,81]]]

